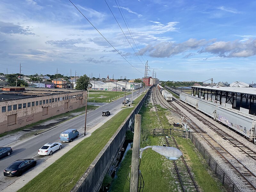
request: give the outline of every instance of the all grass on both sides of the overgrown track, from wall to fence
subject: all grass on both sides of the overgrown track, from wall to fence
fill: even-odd
[[[145,104],[141,108],[141,133],[140,147],[143,148],[149,145],[161,145],[160,137],[148,136],[154,128],[166,128],[169,123],[165,114],[169,113],[165,109],[157,106],[159,118],[164,120],[164,123],[160,124],[157,120],[156,112],[151,111],[152,104]],[[202,191],[218,192],[222,191],[220,182],[216,181],[211,176],[207,167],[207,163],[204,161],[200,153],[196,150],[189,139],[176,138],[179,144],[180,150],[184,154],[192,172],[195,175],[195,180],[200,186]],[[113,181],[111,186],[111,192],[128,192],[129,181],[126,179],[126,175],[131,172],[131,158],[132,151],[128,151],[121,168],[117,172],[117,178]],[[142,154],[140,170],[143,175],[145,187],[143,191],[150,192],[166,192],[166,191],[179,191],[181,189],[177,176],[173,175],[170,169],[173,168],[173,162],[165,159],[165,157],[157,154],[151,149],[147,149]],[[127,177],[128,178],[128,177]]]

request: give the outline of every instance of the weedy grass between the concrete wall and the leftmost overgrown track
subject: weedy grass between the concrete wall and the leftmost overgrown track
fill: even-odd
[[[165,116],[162,116],[162,114],[164,114],[165,109],[160,106],[157,107],[160,109],[158,112],[160,118],[164,118]],[[156,120],[156,112],[151,111],[151,108],[151,103],[145,103],[140,110],[140,114],[142,115],[141,128],[143,127],[140,142],[141,148],[147,145],[160,144],[158,137],[148,136],[148,133],[151,132],[154,127],[160,126],[158,120]],[[165,126],[165,124],[163,126]],[[128,151],[117,172],[117,178],[114,179],[111,185],[111,192],[129,191],[130,186],[129,181],[126,179],[126,175],[131,172],[131,168],[129,167],[131,165],[131,158],[132,151]],[[172,161],[167,160],[153,150],[145,150],[142,154],[140,164],[140,170],[145,182],[143,191],[166,192],[177,189],[175,177],[170,174],[169,167],[172,167]]]

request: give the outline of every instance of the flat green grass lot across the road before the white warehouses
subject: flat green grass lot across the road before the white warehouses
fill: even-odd
[[[131,92],[126,92],[126,95],[131,94]],[[118,99],[119,97],[123,97],[124,92],[115,92],[115,91],[89,91],[89,99],[88,102],[111,102],[114,99]]]

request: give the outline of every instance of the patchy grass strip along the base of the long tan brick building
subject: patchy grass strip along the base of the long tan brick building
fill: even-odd
[[[94,109],[96,109],[96,108],[98,108],[98,107],[96,107],[96,106],[93,106],[93,105],[88,105],[87,106],[87,110],[94,110]],[[73,113],[78,113],[77,115],[72,115]],[[40,124],[42,124],[42,123],[44,123],[44,122],[47,122],[47,121],[49,121],[49,120],[58,120],[58,119],[61,119],[61,118],[65,118],[65,117],[69,117],[67,120],[69,120],[69,119],[71,119],[71,118],[74,118],[74,117],[76,117],[76,116],[78,116],[78,115],[81,115],[82,113],[85,113],[85,107],[81,107],[81,108],[77,108],[77,109],[74,109],[74,110],[72,110],[72,111],[69,111],[69,112],[67,112],[67,113],[62,113],[62,114],[59,114],[59,115],[56,115],[56,116],[53,116],[53,117],[50,117],[50,118],[47,118],[47,119],[43,119],[43,120],[40,120],[40,121],[37,121],[37,122],[35,122],[35,123],[31,123],[31,124],[29,124],[29,125],[26,125],[26,126],[24,126],[24,127],[20,127],[20,128],[18,128],[18,129],[15,129],[15,130],[12,130],[12,131],[9,131],[9,132],[4,132],[4,133],[1,133],[0,134],[0,138],[1,137],[4,137],[5,135],[10,135],[10,134],[12,134],[12,133],[16,133],[16,132],[19,132],[19,131],[22,131],[22,130],[24,130],[24,129],[30,129],[30,128],[33,128],[34,126],[37,126],[37,125],[40,125]],[[65,122],[65,121],[61,121],[60,123],[63,123],[63,122]],[[57,125],[58,123],[56,123],[56,125]]]

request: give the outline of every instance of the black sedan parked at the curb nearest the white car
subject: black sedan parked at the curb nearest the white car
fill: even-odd
[[[23,172],[36,165],[36,159],[14,161],[4,170],[4,176],[20,176]]]

